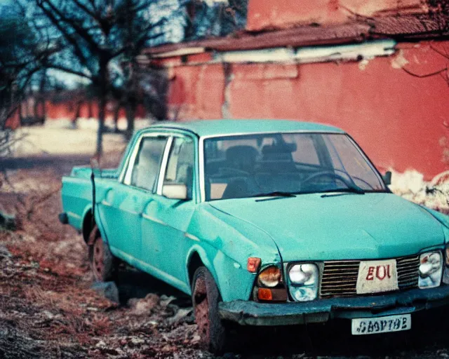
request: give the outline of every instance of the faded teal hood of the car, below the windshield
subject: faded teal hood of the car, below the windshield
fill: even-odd
[[[257,199],[261,198],[210,205],[267,232],[284,262],[401,257],[445,241],[442,224],[435,217],[394,194]]]

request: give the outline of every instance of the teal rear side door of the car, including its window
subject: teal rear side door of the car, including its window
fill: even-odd
[[[142,212],[156,191],[168,136],[143,134],[130,155],[122,182],[110,187],[102,199],[102,219],[109,246],[115,255],[136,265],[142,259]]]

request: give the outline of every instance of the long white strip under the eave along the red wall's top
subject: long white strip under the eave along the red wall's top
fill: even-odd
[[[217,53],[219,62],[325,62],[339,60],[370,60],[395,52],[396,41],[382,40],[344,46],[315,46],[297,48],[269,48]]]

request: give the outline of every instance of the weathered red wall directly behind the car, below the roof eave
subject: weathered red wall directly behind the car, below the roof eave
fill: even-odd
[[[434,46],[449,49],[449,42]],[[448,82],[412,76],[400,65],[427,74],[448,60],[429,43],[399,47],[396,55],[368,63],[232,65],[227,84],[221,65],[175,67],[170,107],[181,107],[180,118],[329,123],[347,130],[379,168],[415,169],[430,179],[448,167]]]

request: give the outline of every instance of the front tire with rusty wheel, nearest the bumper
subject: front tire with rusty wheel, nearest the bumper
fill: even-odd
[[[218,314],[221,300],[212,274],[206,267],[200,266],[192,280],[192,303],[201,337],[199,344],[213,354],[221,354],[229,346],[229,330]]]

